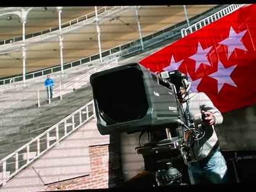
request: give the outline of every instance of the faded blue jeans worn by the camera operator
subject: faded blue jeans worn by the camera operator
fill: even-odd
[[[192,185],[230,183],[226,161],[220,151],[198,162],[188,162],[188,173]]]

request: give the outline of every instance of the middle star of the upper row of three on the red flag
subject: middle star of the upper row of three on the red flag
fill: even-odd
[[[195,60],[195,71],[197,71],[200,64],[207,64],[211,66],[210,62],[207,59],[207,54],[212,47],[213,46],[210,46],[210,48],[207,49],[202,49],[200,42],[198,42],[197,53],[189,57],[190,59]]]

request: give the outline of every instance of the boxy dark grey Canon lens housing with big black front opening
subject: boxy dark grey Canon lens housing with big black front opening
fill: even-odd
[[[175,86],[138,63],[90,77],[101,135],[176,127],[182,120]]]

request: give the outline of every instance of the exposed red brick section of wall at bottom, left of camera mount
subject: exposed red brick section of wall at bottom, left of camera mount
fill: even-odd
[[[118,150],[112,145],[90,146],[90,175],[46,185],[46,191],[113,188],[121,186],[122,166]]]

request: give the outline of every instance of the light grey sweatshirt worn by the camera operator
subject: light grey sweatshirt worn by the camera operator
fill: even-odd
[[[189,109],[187,109],[189,106]],[[198,136],[194,142],[193,151],[195,154],[195,159],[197,161],[203,160],[206,157],[210,157],[218,148],[219,142],[214,130],[213,125],[202,122],[201,112],[210,111],[215,119],[215,124],[220,124],[223,122],[223,116],[221,112],[213,105],[210,98],[205,93],[192,93],[184,98],[182,103],[186,117],[189,120],[194,120],[198,125],[202,125],[202,130],[204,133]]]

